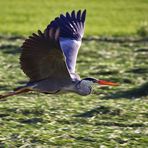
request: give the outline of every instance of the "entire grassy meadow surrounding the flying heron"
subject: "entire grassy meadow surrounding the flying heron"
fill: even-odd
[[[72,9],[88,12],[78,74],[120,83],[94,86],[86,97],[31,92],[1,100],[0,148],[147,148],[147,0],[5,0],[0,6],[0,94],[28,80],[19,65],[25,37]]]

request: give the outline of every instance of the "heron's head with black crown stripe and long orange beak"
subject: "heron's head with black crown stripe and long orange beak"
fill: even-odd
[[[91,86],[92,84],[98,84],[98,85],[108,85],[108,86],[118,86],[119,84],[106,81],[106,80],[97,80],[95,78],[84,78],[81,80],[81,83]]]

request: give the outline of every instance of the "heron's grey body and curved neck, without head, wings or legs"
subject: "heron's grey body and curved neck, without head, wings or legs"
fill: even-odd
[[[57,83],[54,79],[47,78],[36,82],[29,82],[21,88],[28,88],[29,90],[46,94],[61,94],[73,92],[83,96],[89,95],[92,90],[89,83],[87,85],[87,81],[81,82],[78,75],[72,75],[71,81],[66,83]]]

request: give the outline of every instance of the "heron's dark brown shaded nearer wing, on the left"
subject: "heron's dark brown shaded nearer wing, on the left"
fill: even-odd
[[[48,36],[41,31],[32,34],[22,45],[21,68],[30,81],[46,78],[70,80],[65,57],[59,45],[59,28],[50,28]]]

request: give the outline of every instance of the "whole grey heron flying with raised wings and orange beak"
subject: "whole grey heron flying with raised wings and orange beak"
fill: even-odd
[[[0,98],[29,91],[47,94],[74,92],[89,95],[92,84],[116,86],[117,83],[95,78],[81,79],[75,73],[78,50],[84,34],[86,10],[61,14],[47,26],[38,30],[22,45],[20,65],[29,82]]]

